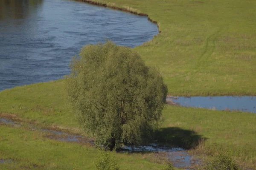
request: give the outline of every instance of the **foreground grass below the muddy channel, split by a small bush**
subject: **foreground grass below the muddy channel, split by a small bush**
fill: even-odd
[[[0,125],[0,170],[95,170],[97,149],[47,139],[45,133]],[[151,154],[114,153],[121,170],[160,170]],[[9,160],[9,161],[8,161]],[[11,160],[11,161],[10,161]],[[156,161],[156,160],[155,160]]]

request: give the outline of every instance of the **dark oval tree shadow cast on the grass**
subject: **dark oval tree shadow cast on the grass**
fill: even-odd
[[[180,127],[160,128],[156,131],[154,139],[157,143],[182,147],[183,149],[195,148],[207,140],[193,130],[185,130]]]

